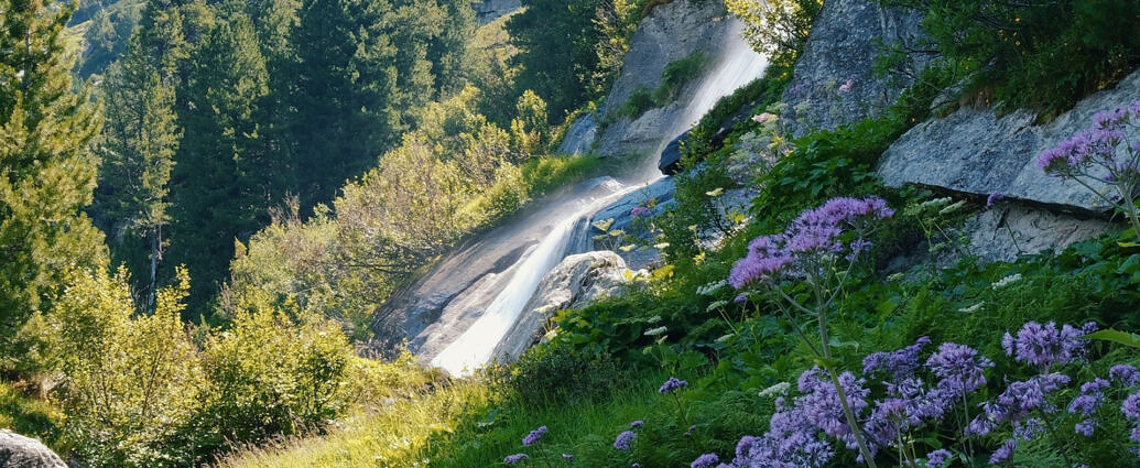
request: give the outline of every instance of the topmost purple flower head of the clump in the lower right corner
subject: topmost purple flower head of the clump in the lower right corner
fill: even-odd
[[[1048,372],[1054,366],[1065,366],[1084,354],[1082,336],[1097,331],[1097,325],[1089,322],[1081,328],[1069,325],[1057,328],[1057,323],[1041,325],[1027,322],[1017,332],[1002,338],[1002,347],[1019,362],[1039,367]]]

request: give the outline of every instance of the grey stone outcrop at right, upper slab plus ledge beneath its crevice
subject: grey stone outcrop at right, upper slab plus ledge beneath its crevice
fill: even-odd
[[[987,261],[1060,249],[1118,229],[1105,222],[1112,206],[1080,183],[1049,176],[1037,155],[1091,125],[1099,110],[1140,96],[1140,72],[1081,100],[1047,124],[1017,110],[960,108],[945,118],[911,129],[883,154],[879,175],[888,186],[912,183],[962,194],[1001,194],[1003,210],[986,211],[966,223],[971,249]],[[1102,184],[1093,183],[1098,190]]]

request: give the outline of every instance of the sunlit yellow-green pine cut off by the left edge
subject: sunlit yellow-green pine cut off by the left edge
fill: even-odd
[[[91,203],[97,108],[75,93],[60,34],[71,9],[0,0],[0,354],[26,318],[48,310],[68,265],[105,266]]]

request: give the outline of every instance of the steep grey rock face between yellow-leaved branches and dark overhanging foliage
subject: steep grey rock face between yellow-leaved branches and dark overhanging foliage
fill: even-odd
[[[826,1],[796,63],[784,92],[781,115],[791,133],[830,130],[878,115],[910,85],[899,77],[876,77],[881,44],[914,43],[921,38],[921,17],[909,10],[883,8],[869,0]],[[907,68],[921,71],[927,59],[912,56]]]

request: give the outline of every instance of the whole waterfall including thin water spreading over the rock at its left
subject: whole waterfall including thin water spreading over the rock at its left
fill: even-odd
[[[716,101],[759,77],[767,60],[740,38],[733,20],[719,59],[700,81],[683,112],[661,136],[657,151],[644,155],[625,183],[612,179],[547,203],[544,210],[520,216],[483,239],[461,248],[405,293],[390,307],[434,310],[430,325],[406,325],[416,331],[418,354],[453,375],[486,364],[526,309],[543,277],[573,248],[588,241],[588,229],[573,229],[598,210],[662,175],[657,156],[676,136],[692,126]],[[584,237],[584,238],[579,238]],[[521,251],[524,246],[532,246]],[[508,265],[506,265],[508,264]],[[434,307],[434,309],[432,309]]]

